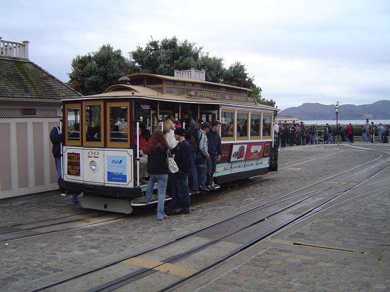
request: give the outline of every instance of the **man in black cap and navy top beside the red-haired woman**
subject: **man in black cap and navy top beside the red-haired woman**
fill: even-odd
[[[175,162],[179,171],[173,173],[174,188],[172,200],[165,212],[166,215],[190,214],[190,190],[188,188],[188,174],[191,170],[191,149],[190,144],[185,140],[186,135],[183,128],[176,128],[175,139],[179,141],[171,153],[175,154]],[[177,203],[180,203],[181,210],[176,212]]]

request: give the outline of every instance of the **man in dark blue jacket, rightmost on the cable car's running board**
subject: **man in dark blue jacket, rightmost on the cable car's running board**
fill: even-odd
[[[221,123],[219,121],[213,122],[213,127],[206,133],[207,136],[207,150],[210,158],[207,159],[207,177],[206,185],[209,190],[215,190],[214,186],[214,173],[216,169],[216,163],[222,156],[222,144],[221,137],[219,136],[219,130],[221,129]]]

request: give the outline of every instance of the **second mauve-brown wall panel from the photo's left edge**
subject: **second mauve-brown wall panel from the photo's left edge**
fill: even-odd
[[[16,145],[18,155],[18,188],[28,187],[27,123],[16,124]]]

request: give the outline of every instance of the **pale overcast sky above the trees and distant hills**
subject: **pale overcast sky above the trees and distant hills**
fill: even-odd
[[[282,110],[390,99],[389,0],[13,0],[1,11],[0,37],[30,41],[30,60],[64,82],[74,57],[103,44],[129,57],[176,36],[244,64]]]

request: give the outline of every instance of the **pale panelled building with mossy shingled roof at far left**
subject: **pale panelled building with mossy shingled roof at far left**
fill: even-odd
[[[28,59],[28,41],[0,37],[0,199],[54,190],[50,130],[78,92]]]

